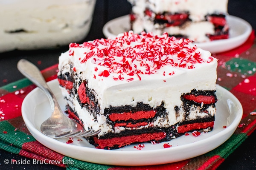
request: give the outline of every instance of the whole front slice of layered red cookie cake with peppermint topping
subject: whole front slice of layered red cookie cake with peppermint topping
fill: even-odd
[[[167,33],[71,43],[59,57],[67,113],[101,149],[169,141],[214,126],[217,59]]]

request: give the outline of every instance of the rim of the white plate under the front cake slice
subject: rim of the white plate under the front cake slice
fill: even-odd
[[[57,80],[54,79],[50,82],[47,82],[47,84],[50,86],[50,88],[52,88],[51,86],[54,85],[54,84],[57,84]],[[38,142],[40,142],[41,144],[43,144],[44,146],[54,150],[55,152],[58,152],[58,153],[61,153],[65,156],[69,156],[71,158],[74,158],[74,159],[79,159],[81,161],[88,161],[88,162],[91,162],[91,163],[96,163],[96,164],[108,164],[108,165],[121,165],[121,166],[141,166],[141,165],[155,165],[155,164],[165,164],[165,163],[172,163],[172,162],[177,162],[177,161],[182,161],[182,160],[185,160],[185,159],[190,159],[190,158],[193,158],[195,156],[199,156],[199,155],[202,155],[204,153],[207,153],[213,149],[215,149],[216,147],[220,146],[222,143],[224,143],[227,139],[230,138],[230,136],[234,133],[234,131],[236,130],[236,127],[239,125],[239,122],[241,121],[241,118],[242,118],[242,106],[241,106],[241,103],[239,102],[239,100],[230,92],[228,91],[227,89],[219,86],[219,85],[216,85],[217,88],[221,89],[221,91],[224,91],[226,93],[228,93],[229,95],[231,95],[233,97],[233,99],[235,100],[234,103],[237,104],[237,107],[239,108],[239,115],[238,117],[236,117],[233,122],[227,127],[225,128],[224,130],[221,130],[220,132],[214,134],[213,136],[209,136],[208,138],[206,139],[202,139],[200,141],[197,141],[197,142],[192,142],[192,143],[189,143],[189,144],[183,144],[183,145],[180,145],[178,147],[170,147],[170,148],[163,148],[163,149],[156,149],[156,150],[139,150],[139,151],[128,151],[128,150],[102,150],[102,149],[96,149],[96,148],[90,148],[90,147],[83,147],[83,146],[77,146],[77,145],[70,145],[70,144],[66,144],[64,142],[60,142],[56,139],[52,139],[48,136],[45,136],[43,133],[41,133],[36,127],[35,125],[33,125],[33,123],[31,121],[29,121],[29,118],[28,118],[28,115],[26,115],[25,113],[25,103],[26,103],[26,100],[29,99],[29,97],[33,96],[37,91],[40,91],[39,88],[35,88],[34,90],[32,90],[29,94],[27,94],[27,96],[24,98],[23,100],[23,103],[22,103],[22,117],[23,117],[23,120],[26,124],[26,127],[29,129],[29,132],[32,134],[32,136],[34,136],[34,138],[36,140],[38,140]],[[54,92],[54,91],[53,91]],[[24,102],[25,101],[25,102]],[[209,140],[212,140],[214,139],[217,134],[218,136],[224,136],[225,134],[229,134],[228,137],[226,137],[225,140],[221,141],[221,144],[217,144],[217,146],[215,146],[214,148],[210,149],[210,150],[207,150],[205,151],[204,153],[199,153],[197,155],[193,154],[193,156],[188,156],[188,157],[184,157],[184,159],[173,159],[174,161],[163,161],[163,162],[156,162],[156,161],[151,161],[149,163],[146,163],[148,161],[142,161],[142,162],[113,162],[111,160],[108,160],[108,159],[100,159],[100,161],[98,160],[95,160],[95,159],[91,159],[90,157],[86,157],[86,158],[77,158],[76,156],[76,153],[69,153],[69,154],[65,154],[61,151],[61,149],[63,147],[68,147],[70,148],[70,150],[74,149],[74,150],[78,150],[80,149],[80,152],[86,152],[87,154],[96,154],[96,155],[100,155],[102,153],[104,154],[107,154],[109,155],[110,157],[116,157],[116,156],[133,156],[134,159],[135,158],[140,158],[140,156],[145,156],[145,154],[149,154],[149,155],[159,155],[160,154],[160,151],[161,150],[161,154],[169,154],[170,152],[177,152],[179,150],[189,150],[191,149],[191,147],[193,147],[193,145],[196,144],[204,144],[206,143],[207,141]],[[57,149],[56,148],[52,148],[50,147],[49,145],[50,144],[57,144],[58,147]],[[62,149],[63,150],[63,149]],[[61,152],[60,152],[61,151]],[[134,154],[136,153],[136,154]],[[160,154],[160,155],[161,155]],[[118,158],[118,157],[116,157]]]

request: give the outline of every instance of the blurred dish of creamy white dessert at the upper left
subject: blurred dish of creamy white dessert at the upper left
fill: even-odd
[[[96,0],[1,0],[0,52],[55,48],[87,36]]]

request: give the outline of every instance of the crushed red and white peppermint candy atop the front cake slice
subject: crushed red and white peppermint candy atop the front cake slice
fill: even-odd
[[[153,33],[134,34],[133,31],[114,39],[96,39],[83,44],[70,43],[69,55],[73,56],[72,48],[87,48],[80,63],[91,59],[96,65],[104,66],[106,69],[96,70],[98,76],[108,77],[111,73],[117,74],[114,80],[123,80],[123,75],[131,76],[126,79],[132,81],[133,76],[141,74],[155,74],[157,70],[165,65],[177,68],[193,69],[195,64],[212,62],[213,58],[207,60],[201,58],[201,54],[189,39],[176,39],[169,37],[167,33],[162,36]],[[175,74],[165,73],[166,76]]]

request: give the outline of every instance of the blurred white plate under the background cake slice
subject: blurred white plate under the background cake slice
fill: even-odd
[[[247,21],[227,15],[227,23],[230,26],[230,38],[211,42],[195,43],[198,47],[211,53],[220,53],[242,45],[250,36],[252,27]],[[116,37],[118,34],[129,31],[131,28],[129,15],[115,18],[103,27],[105,37]]]

